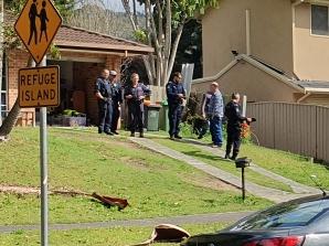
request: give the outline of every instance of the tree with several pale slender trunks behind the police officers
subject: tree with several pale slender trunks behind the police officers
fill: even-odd
[[[136,3],[145,7],[146,30],[139,28],[136,21]],[[184,24],[195,13],[203,13],[208,7],[217,7],[219,0],[121,0],[126,13],[139,41],[155,47],[152,55],[144,56],[148,77],[153,85],[163,86],[170,78],[177,49]],[[172,39],[172,33],[176,38]],[[144,35],[142,35],[144,33]]]

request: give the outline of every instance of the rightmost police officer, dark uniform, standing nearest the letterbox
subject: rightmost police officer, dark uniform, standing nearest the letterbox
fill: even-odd
[[[233,145],[233,156],[230,158],[231,160],[235,160],[238,154],[242,122],[252,121],[252,118],[242,116],[242,109],[238,101],[240,94],[233,93],[232,100],[225,106],[225,116],[227,118],[227,143],[225,159],[230,158]]]

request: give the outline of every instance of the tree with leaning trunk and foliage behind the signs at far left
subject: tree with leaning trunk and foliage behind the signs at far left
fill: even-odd
[[[3,40],[0,39],[0,58],[1,58],[1,78],[2,78],[2,55],[3,55],[3,51],[6,49],[10,49],[10,47],[14,47],[19,44],[18,42],[18,38],[13,31],[13,25],[12,23],[10,25],[6,25],[4,24],[4,20],[3,20],[3,13],[4,13],[4,9],[8,10],[13,17],[18,18],[19,13],[21,12],[23,6],[24,6],[24,0],[6,0],[3,2],[3,0],[0,0],[0,18],[2,17],[2,19],[0,19],[1,21],[1,34],[0,36],[3,38]],[[55,0],[55,6],[56,8],[60,10],[64,21],[66,20],[66,18],[70,17],[70,13],[72,12],[73,8],[74,8],[74,0]],[[1,42],[2,41],[2,42]],[[4,46],[4,43],[7,46]],[[32,58],[30,57],[28,61],[28,65],[32,63]],[[2,81],[0,86],[2,85]],[[13,107],[11,108],[11,110],[9,111],[8,116],[6,117],[6,119],[3,120],[1,127],[0,127],[0,140],[1,139],[6,139],[10,132],[12,131],[17,119],[20,115],[20,106],[19,106],[19,99],[17,98]]]

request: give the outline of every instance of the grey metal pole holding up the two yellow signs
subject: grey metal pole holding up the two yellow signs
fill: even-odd
[[[44,56],[39,66],[46,66]],[[46,107],[40,108],[41,245],[47,246],[47,133]]]

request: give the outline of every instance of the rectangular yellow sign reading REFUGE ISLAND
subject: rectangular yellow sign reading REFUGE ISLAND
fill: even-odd
[[[60,105],[60,67],[42,66],[19,71],[19,105],[22,108]]]

